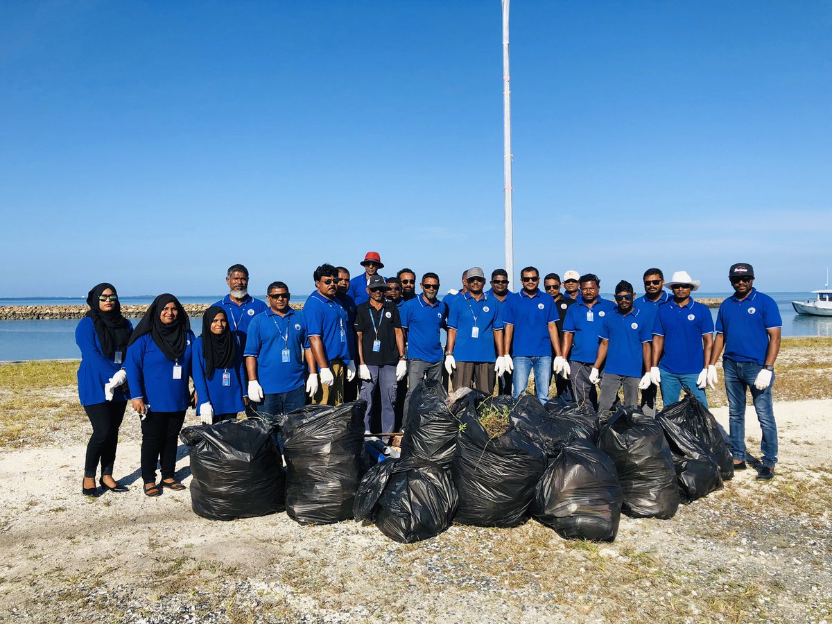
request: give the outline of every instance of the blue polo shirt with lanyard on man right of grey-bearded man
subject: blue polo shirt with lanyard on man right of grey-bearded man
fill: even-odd
[[[289,349],[289,361],[283,361],[283,349]],[[289,310],[285,316],[272,310],[256,316],[249,326],[245,355],[257,358],[257,379],[265,394],[281,394],[304,384],[306,360],[310,349],[305,314]]]

